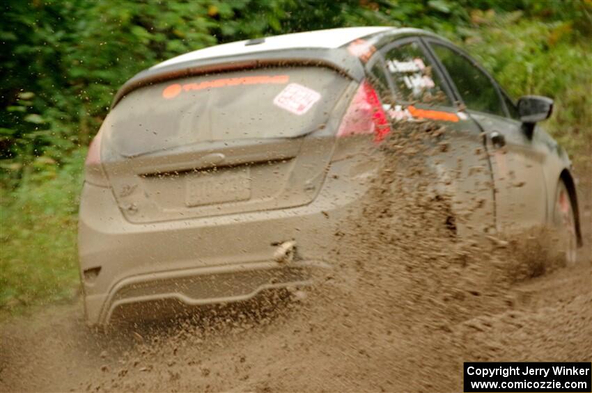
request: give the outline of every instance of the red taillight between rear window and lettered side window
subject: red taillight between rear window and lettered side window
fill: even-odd
[[[376,90],[367,80],[362,81],[341,120],[337,136],[374,134],[374,140],[380,142],[390,131],[389,118]]]

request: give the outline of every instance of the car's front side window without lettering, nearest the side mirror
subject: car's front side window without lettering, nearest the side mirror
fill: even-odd
[[[436,56],[442,61],[458,93],[468,109],[506,116],[497,88],[469,58],[449,47],[432,43]]]

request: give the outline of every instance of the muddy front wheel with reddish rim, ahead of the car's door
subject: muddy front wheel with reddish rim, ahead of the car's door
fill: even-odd
[[[553,220],[554,225],[559,229],[559,234],[561,234],[561,247],[565,249],[566,262],[567,264],[575,264],[577,259],[575,218],[570,194],[563,180],[559,180],[559,184],[557,184]]]

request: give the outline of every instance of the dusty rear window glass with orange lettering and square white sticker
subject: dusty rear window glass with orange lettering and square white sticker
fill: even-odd
[[[201,75],[135,90],[107,119],[125,156],[208,141],[300,136],[327,121],[348,79],[320,67]]]

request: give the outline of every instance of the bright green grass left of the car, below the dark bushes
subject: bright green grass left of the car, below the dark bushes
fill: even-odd
[[[82,165],[37,160],[14,191],[0,189],[0,311],[69,298],[78,287],[76,226]]]

